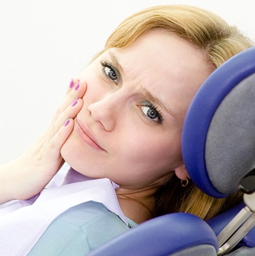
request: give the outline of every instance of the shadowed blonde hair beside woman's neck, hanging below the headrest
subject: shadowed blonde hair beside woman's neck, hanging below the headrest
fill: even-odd
[[[174,175],[155,194],[155,215],[172,212],[189,212],[204,220],[221,214],[241,202],[243,194],[234,193],[226,198],[214,198],[204,194],[192,181],[182,187]]]

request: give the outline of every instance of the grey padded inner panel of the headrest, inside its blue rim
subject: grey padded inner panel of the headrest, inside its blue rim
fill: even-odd
[[[237,191],[255,167],[255,74],[234,87],[215,112],[206,137],[205,162],[211,182],[222,194]]]

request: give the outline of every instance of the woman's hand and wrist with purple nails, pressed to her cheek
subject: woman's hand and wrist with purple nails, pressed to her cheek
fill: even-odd
[[[82,108],[86,83],[72,79],[49,129],[20,157],[0,165],[0,203],[38,194],[63,165],[60,150]]]

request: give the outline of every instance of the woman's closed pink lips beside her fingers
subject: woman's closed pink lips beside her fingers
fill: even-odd
[[[95,148],[95,150],[105,151],[96,141],[95,136],[92,134],[91,131],[82,123],[80,120],[75,118],[75,126],[78,135],[81,139],[90,147]]]

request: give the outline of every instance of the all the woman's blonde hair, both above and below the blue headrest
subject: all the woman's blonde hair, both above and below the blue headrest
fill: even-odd
[[[210,11],[183,5],[156,6],[137,12],[109,36],[105,49],[126,48],[148,31],[161,28],[191,42],[200,49],[213,69],[231,56],[252,46],[236,27],[229,26]],[[155,195],[157,215],[183,211],[208,219],[241,200],[240,194],[227,199],[205,195],[194,184],[183,189],[173,176]]]

